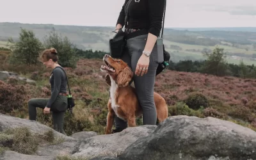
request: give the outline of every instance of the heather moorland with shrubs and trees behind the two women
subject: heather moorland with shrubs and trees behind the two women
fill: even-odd
[[[35,40],[35,43],[31,43],[28,39]],[[68,135],[79,131],[95,131],[103,134],[109,98],[109,86],[104,81],[105,74],[100,72],[100,66],[103,64],[102,56],[105,53],[76,49],[67,37],[61,38],[54,32],[42,45],[32,32],[22,30],[20,41],[24,43],[10,41],[11,50],[0,51],[0,56],[3,57],[1,70],[15,72],[35,80],[36,83],[26,83],[14,78],[0,81],[0,113],[28,119],[28,100],[51,96],[49,84],[51,69],[46,69],[38,61],[29,61],[28,57],[31,54],[29,47],[26,48],[27,50],[22,48],[30,46],[38,49],[33,52],[36,54],[44,47],[53,46],[60,55],[65,55],[60,63],[67,71],[72,96],[76,100],[73,113],[65,115],[65,132]],[[74,56],[75,54],[77,56]],[[237,66],[236,72],[234,66],[233,71],[230,70],[223,49],[218,47],[212,54],[206,56],[208,59],[205,63],[192,64],[191,68],[194,70],[191,72],[181,71],[180,64],[189,63],[184,61],[184,63],[171,63],[168,69],[156,77],[155,91],[166,100],[169,116],[188,115],[202,118],[213,116],[256,129],[256,79],[252,79],[255,67],[246,66],[242,61]],[[38,56],[33,58],[37,59]],[[23,60],[20,61],[21,63],[13,63],[20,59]],[[216,67],[216,64],[219,65]],[[234,77],[234,73],[238,73],[237,77]],[[42,109],[37,109],[37,117],[39,122],[52,127],[51,115],[44,115]],[[137,122],[141,124],[141,117]]]

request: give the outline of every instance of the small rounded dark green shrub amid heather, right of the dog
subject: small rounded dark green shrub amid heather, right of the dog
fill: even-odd
[[[202,94],[198,92],[192,92],[189,94],[188,99],[184,100],[184,102],[191,109],[200,109],[200,107],[207,108],[209,106],[208,99]]]

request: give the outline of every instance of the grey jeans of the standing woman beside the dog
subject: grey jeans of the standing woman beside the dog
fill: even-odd
[[[140,35],[127,40],[127,51],[121,59],[132,68],[132,72],[136,70],[137,62],[147,42],[147,36]],[[150,55],[147,74],[143,76],[136,76],[134,74],[133,77],[136,94],[143,109],[143,125],[156,125],[157,121],[154,102],[154,84],[157,66],[157,46],[155,45]],[[115,127],[116,129],[125,129],[127,122],[115,116]]]

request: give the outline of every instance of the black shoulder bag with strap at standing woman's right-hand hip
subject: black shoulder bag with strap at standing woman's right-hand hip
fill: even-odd
[[[165,10],[166,10],[166,0],[164,0],[164,15],[163,15],[163,27],[162,27],[162,33],[161,33],[161,38],[163,39],[163,33],[164,33],[164,19],[165,19]],[[156,70],[156,76],[158,74],[160,74],[165,68],[166,66],[169,65],[169,60],[170,60],[170,53],[165,51],[164,49],[164,44],[163,44],[163,58],[164,61],[162,63],[159,63],[157,70]]]

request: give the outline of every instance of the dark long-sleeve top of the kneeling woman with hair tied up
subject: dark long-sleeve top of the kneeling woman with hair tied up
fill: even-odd
[[[56,100],[59,93],[67,93],[67,77],[65,72],[59,67],[54,68],[50,77],[50,83],[52,94],[46,105],[47,108],[51,108],[52,103]]]

